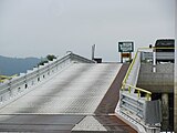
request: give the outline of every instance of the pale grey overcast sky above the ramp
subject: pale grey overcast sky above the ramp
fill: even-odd
[[[119,60],[118,41],[148,47],[175,37],[175,0],[0,0],[0,54],[63,55],[73,51]]]

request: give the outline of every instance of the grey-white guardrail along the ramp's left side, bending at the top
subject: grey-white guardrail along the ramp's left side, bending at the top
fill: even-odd
[[[54,73],[62,71],[74,62],[95,63],[92,60],[71,52],[61,59],[54,59],[44,65],[28,70],[27,73],[21,73],[19,76],[0,84],[0,103],[2,104],[4,101],[18,96],[21,92],[24,92],[41,81],[49,79]]]

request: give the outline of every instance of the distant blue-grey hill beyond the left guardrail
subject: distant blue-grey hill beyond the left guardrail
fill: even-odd
[[[27,72],[27,70],[37,66],[41,60],[38,58],[7,58],[0,55],[0,74],[13,75]]]

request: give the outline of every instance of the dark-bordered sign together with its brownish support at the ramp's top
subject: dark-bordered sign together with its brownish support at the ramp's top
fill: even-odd
[[[121,62],[123,63],[123,59],[128,58],[132,60],[132,52],[134,52],[134,42],[125,41],[118,42],[118,52],[121,52]]]

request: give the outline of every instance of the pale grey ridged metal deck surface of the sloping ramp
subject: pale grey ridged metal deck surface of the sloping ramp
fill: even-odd
[[[73,64],[0,113],[94,113],[119,68],[110,63]]]

